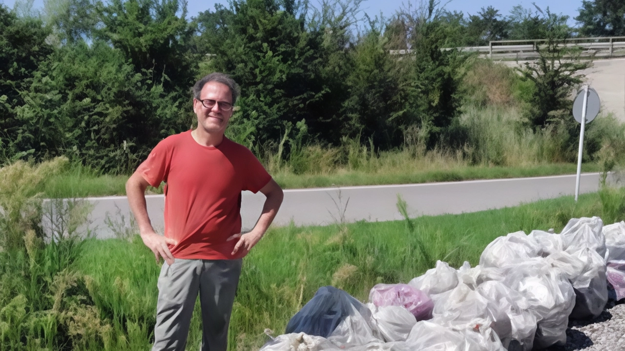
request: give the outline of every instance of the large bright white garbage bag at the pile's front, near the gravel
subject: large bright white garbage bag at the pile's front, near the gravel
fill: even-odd
[[[528,310],[536,316],[534,347],[564,344],[569,315],[575,305],[569,280],[541,257],[509,266],[506,272],[507,286],[527,299]]]

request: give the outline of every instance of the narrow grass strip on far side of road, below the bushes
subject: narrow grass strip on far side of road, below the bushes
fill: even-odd
[[[399,156],[396,156],[399,157]],[[389,162],[390,163],[390,162]],[[406,164],[407,163],[407,164]],[[539,177],[544,175],[575,174],[575,164],[546,164],[524,167],[466,166],[462,164],[442,164],[439,167],[420,166],[420,162],[410,164],[397,161],[396,166],[383,164],[366,169],[338,169],[326,174],[292,174],[279,171],[274,179],[284,189],[311,187],[333,187],[349,185],[416,184],[427,182],[451,182],[474,179],[499,179],[517,177]],[[584,164],[582,172],[597,172],[595,163]],[[44,197],[49,199],[126,195],[126,175],[99,175],[84,167],[71,167],[49,177],[41,185]],[[148,188],[151,194],[161,194],[162,187]]]

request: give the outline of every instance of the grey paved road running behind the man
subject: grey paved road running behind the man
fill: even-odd
[[[599,174],[582,174],[580,193],[594,192]],[[274,224],[327,225],[356,220],[402,219],[397,212],[397,196],[406,200],[411,217],[460,214],[514,206],[523,202],[572,195],[575,175],[497,180],[471,180],[407,185],[291,189],[284,191],[284,202]],[[98,237],[114,237],[114,231],[129,227],[128,200],[123,196],[86,199],[94,208],[91,229]],[[148,195],[148,212],[157,230],[163,229],[163,195]],[[242,225],[251,229],[262,209],[264,195],[244,192]],[[109,223],[107,224],[107,217]]]

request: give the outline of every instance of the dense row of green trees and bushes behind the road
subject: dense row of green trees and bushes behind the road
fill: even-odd
[[[292,160],[296,172],[311,168],[297,161],[304,146],[478,147],[461,121],[462,108],[476,104],[515,106],[522,131],[548,129],[563,138],[556,144],[574,147],[569,94],[583,65],[552,65],[563,54],[555,44],[571,34],[561,16],[516,9],[516,19],[501,19],[555,39],[522,77],[482,64],[501,83],[492,89],[467,81],[479,64],[449,46],[469,34],[482,40],[494,9],[467,21],[429,1],[383,20],[359,18],[359,4],[237,0],[191,21],[179,0],[70,0],[41,19],[0,5],[0,162],[66,156],[128,174],[161,139],[192,127],[189,88],[212,71],[241,85],[227,135],[277,164]]]

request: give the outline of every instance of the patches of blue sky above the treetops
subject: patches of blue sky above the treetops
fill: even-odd
[[[9,7],[13,7],[13,4],[16,0],[0,0],[4,2]],[[311,3],[317,0],[311,0]],[[189,0],[188,9],[189,16],[196,16],[198,12],[206,11],[207,9],[213,9],[214,3],[219,2],[221,4],[227,4],[227,1],[211,1],[211,0]],[[414,4],[419,4],[419,1],[407,1],[407,0],[365,0],[361,4],[361,8],[363,11],[367,12],[369,16],[376,16],[382,11],[384,17],[391,17],[398,9],[401,9],[402,6],[405,6],[411,2]],[[541,9],[546,9],[549,7],[551,12],[561,13],[569,16],[569,25],[574,25],[575,21],[572,19],[577,16],[578,9],[581,7],[582,0],[451,0],[449,2],[441,1],[442,4],[446,3],[445,8],[449,11],[461,11],[464,13],[465,17],[467,14],[477,14],[477,11],[480,11],[482,7],[492,6],[495,9],[499,10],[504,16],[507,16],[512,9],[512,7],[516,5],[521,5],[525,8],[534,9],[532,6],[532,2],[536,2],[536,5],[541,7]],[[43,0],[34,0],[34,7],[41,8],[43,6]]]

